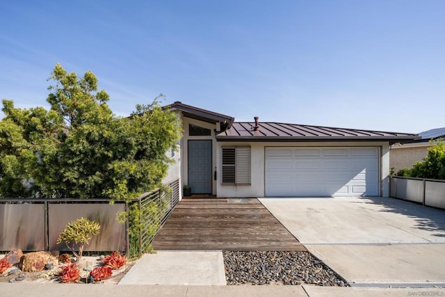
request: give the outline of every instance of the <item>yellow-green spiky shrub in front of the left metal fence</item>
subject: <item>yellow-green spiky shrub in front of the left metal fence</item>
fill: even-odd
[[[82,258],[83,247],[90,243],[91,236],[100,232],[100,224],[88,218],[78,218],[68,223],[65,229],[60,232],[57,243],[65,243],[76,256],[76,263],[79,264]]]

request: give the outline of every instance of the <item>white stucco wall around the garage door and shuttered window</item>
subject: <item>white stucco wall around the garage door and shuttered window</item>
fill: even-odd
[[[251,180],[250,185],[227,185],[221,184],[222,172],[222,147],[234,145],[250,145],[251,147]],[[227,198],[254,198],[264,197],[265,192],[265,149],[266,147],[380,147],[380,195],[383,197],[389,196],[389,143],[388,142],[314,142],[314,143],[245,143],[245,142],[218,142],[216,163],[217,167],[217,182],[216,194],[218,197]]]

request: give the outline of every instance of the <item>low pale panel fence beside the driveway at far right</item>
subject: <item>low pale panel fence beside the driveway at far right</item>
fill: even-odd
[[[392,198],[445,209],[445,180],[391,177]]]

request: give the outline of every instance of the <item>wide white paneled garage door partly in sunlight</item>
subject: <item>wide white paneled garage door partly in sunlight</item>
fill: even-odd
[[[378,159],[378,147],[266,147],[266,196],[376,196]]]

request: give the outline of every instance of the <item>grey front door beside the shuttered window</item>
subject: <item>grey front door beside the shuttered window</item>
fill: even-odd
[[[211,140],[188,141],[188,184],[193,194],[211,194]]]

